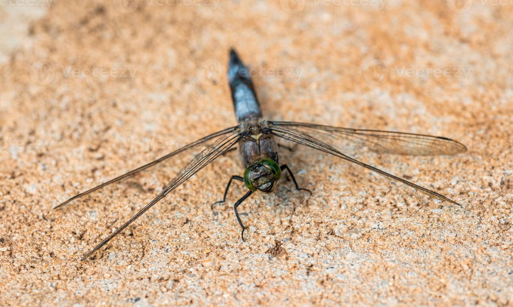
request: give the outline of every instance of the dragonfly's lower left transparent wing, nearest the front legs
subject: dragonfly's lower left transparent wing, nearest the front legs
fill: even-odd
[[[186,180],[191,178],[196,172],[200,171],[202,168],[210,164],[210,162],[214,161],[224,152],[228,151],[233,145],[238,143],[241,140],[241,136],[238,130],[234,130],[228,135],[224,134],[222,137],[218,137],[212,144],[207,146],[203,151],[201,151],[198,155],[192,159],[182,170],[177,173],[174,179],[166,185],[164,190],[156,196],[154,200],[152,200],[148,205],[146,205],[143,209],[137,212],[128,222],[123,224],[120,228],[116,229],[111,235],[109,235],[106,239],[104,239],[100,244],[98,244],[94,249],[85,254],[81,260],[85,260],[92,253],[100,249],[102,246],[107,244],[114,236],[123,231],[128,225],[130,225],[133,221],[137,220],[139,216],[141,216],[144,212],[146,212],[151,206],[159,202],[161,199],[165,198],[169,192],[180,186]]]

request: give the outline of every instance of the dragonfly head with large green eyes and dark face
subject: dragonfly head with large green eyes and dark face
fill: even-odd
[[[262,159],[246,168],[244,184],[251,191],[259,190],[270,193],[276,187],[276,182],[280,180],[281,176],[282,170],[278,163],[271,159]]]

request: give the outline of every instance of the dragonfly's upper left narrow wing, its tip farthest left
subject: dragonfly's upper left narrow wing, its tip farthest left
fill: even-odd
[[[194,149],[198,149],[198,148],[201,149],[202,145],[205,146],[205,145],[215,141],[216,138],[221,138],[223,136],[230,135],[234,131],[238,130],[238,128],[239,128],[238,126],[226,128],[224,130],[221,130],[219,132],[216,132],[216,133],[208,135],[208,136],[206,136],[204,138],[201,138],[201,139],[199,139],[199,140],[197,140],[195,142],[187,144],[184,147],[176,149],[176,150],[168,153],[167,155],[165,155],[165,156],[163,156],[163,157],[161,157],[161,158],[159,158],[157,160],[154,160],[154,161],[152,161],[152,162],[150,162],[148,164],[145,164],[143,166],[137,167],[136,169],[133,169],[133,170],[127,172],[127,173],[122,174],[121,176],[118,176],[118,177],[116,177],[114,179],[111,179],[111,180],[109,180],[107,182],[104,182],[104,183],[102,183],[100,185],[97,185],[94,188],[91,188],[91,189],[89,189],[87,191],[84,191],[82,193],[76,194],[75,196],[73,196],[72,198],[68,199],[67,201],[65,201],[65,202],[55,206],[53,209],[61,208],[61,207],[65,206],[65,205],[69,204],[73,200],[81,198],[84,195],[87,195],[87,194],[89,194],[91,192],[99,190],[99,189],[101,189],[103,187],[106,187],[108,185],[111,185],[113,183],[117,183],[117,182],[120,182],[120,181],[122,181],[124,179],[127,179],[129,177],[132,177],[135,174],[141,173],[142,171],[144,171],[144,170],[146,170],[146,169],[148,169],[148,168],[150,168],[152,166],[156,166],[158,164],[162,164],[164,161],[169,162],[170,158],[175,157],[176,155],[179,155],[180,153],[186,153],[186,152],[188,152],[190,150],[194,150]]]

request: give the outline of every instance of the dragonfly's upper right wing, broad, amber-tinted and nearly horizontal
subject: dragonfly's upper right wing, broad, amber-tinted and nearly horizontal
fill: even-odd
[[[268,123],[270,126],[292,127],[339,150],[356,145],[357,149],[366,147],[379,153],[415,156],[456,155],[467,150],[465,145],[444,137],[298,122],[271,121]]]

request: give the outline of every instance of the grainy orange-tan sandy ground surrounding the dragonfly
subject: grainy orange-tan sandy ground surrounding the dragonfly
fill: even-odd
[[[0,6],[1,305],[513,303],[513,4],[118,0]],[[229,152],[88,260],[192,153],[73,194],[235,125],[230,47],[269,119],[455,138],[463,155],[282,152],[301,186],[241,207]]]

